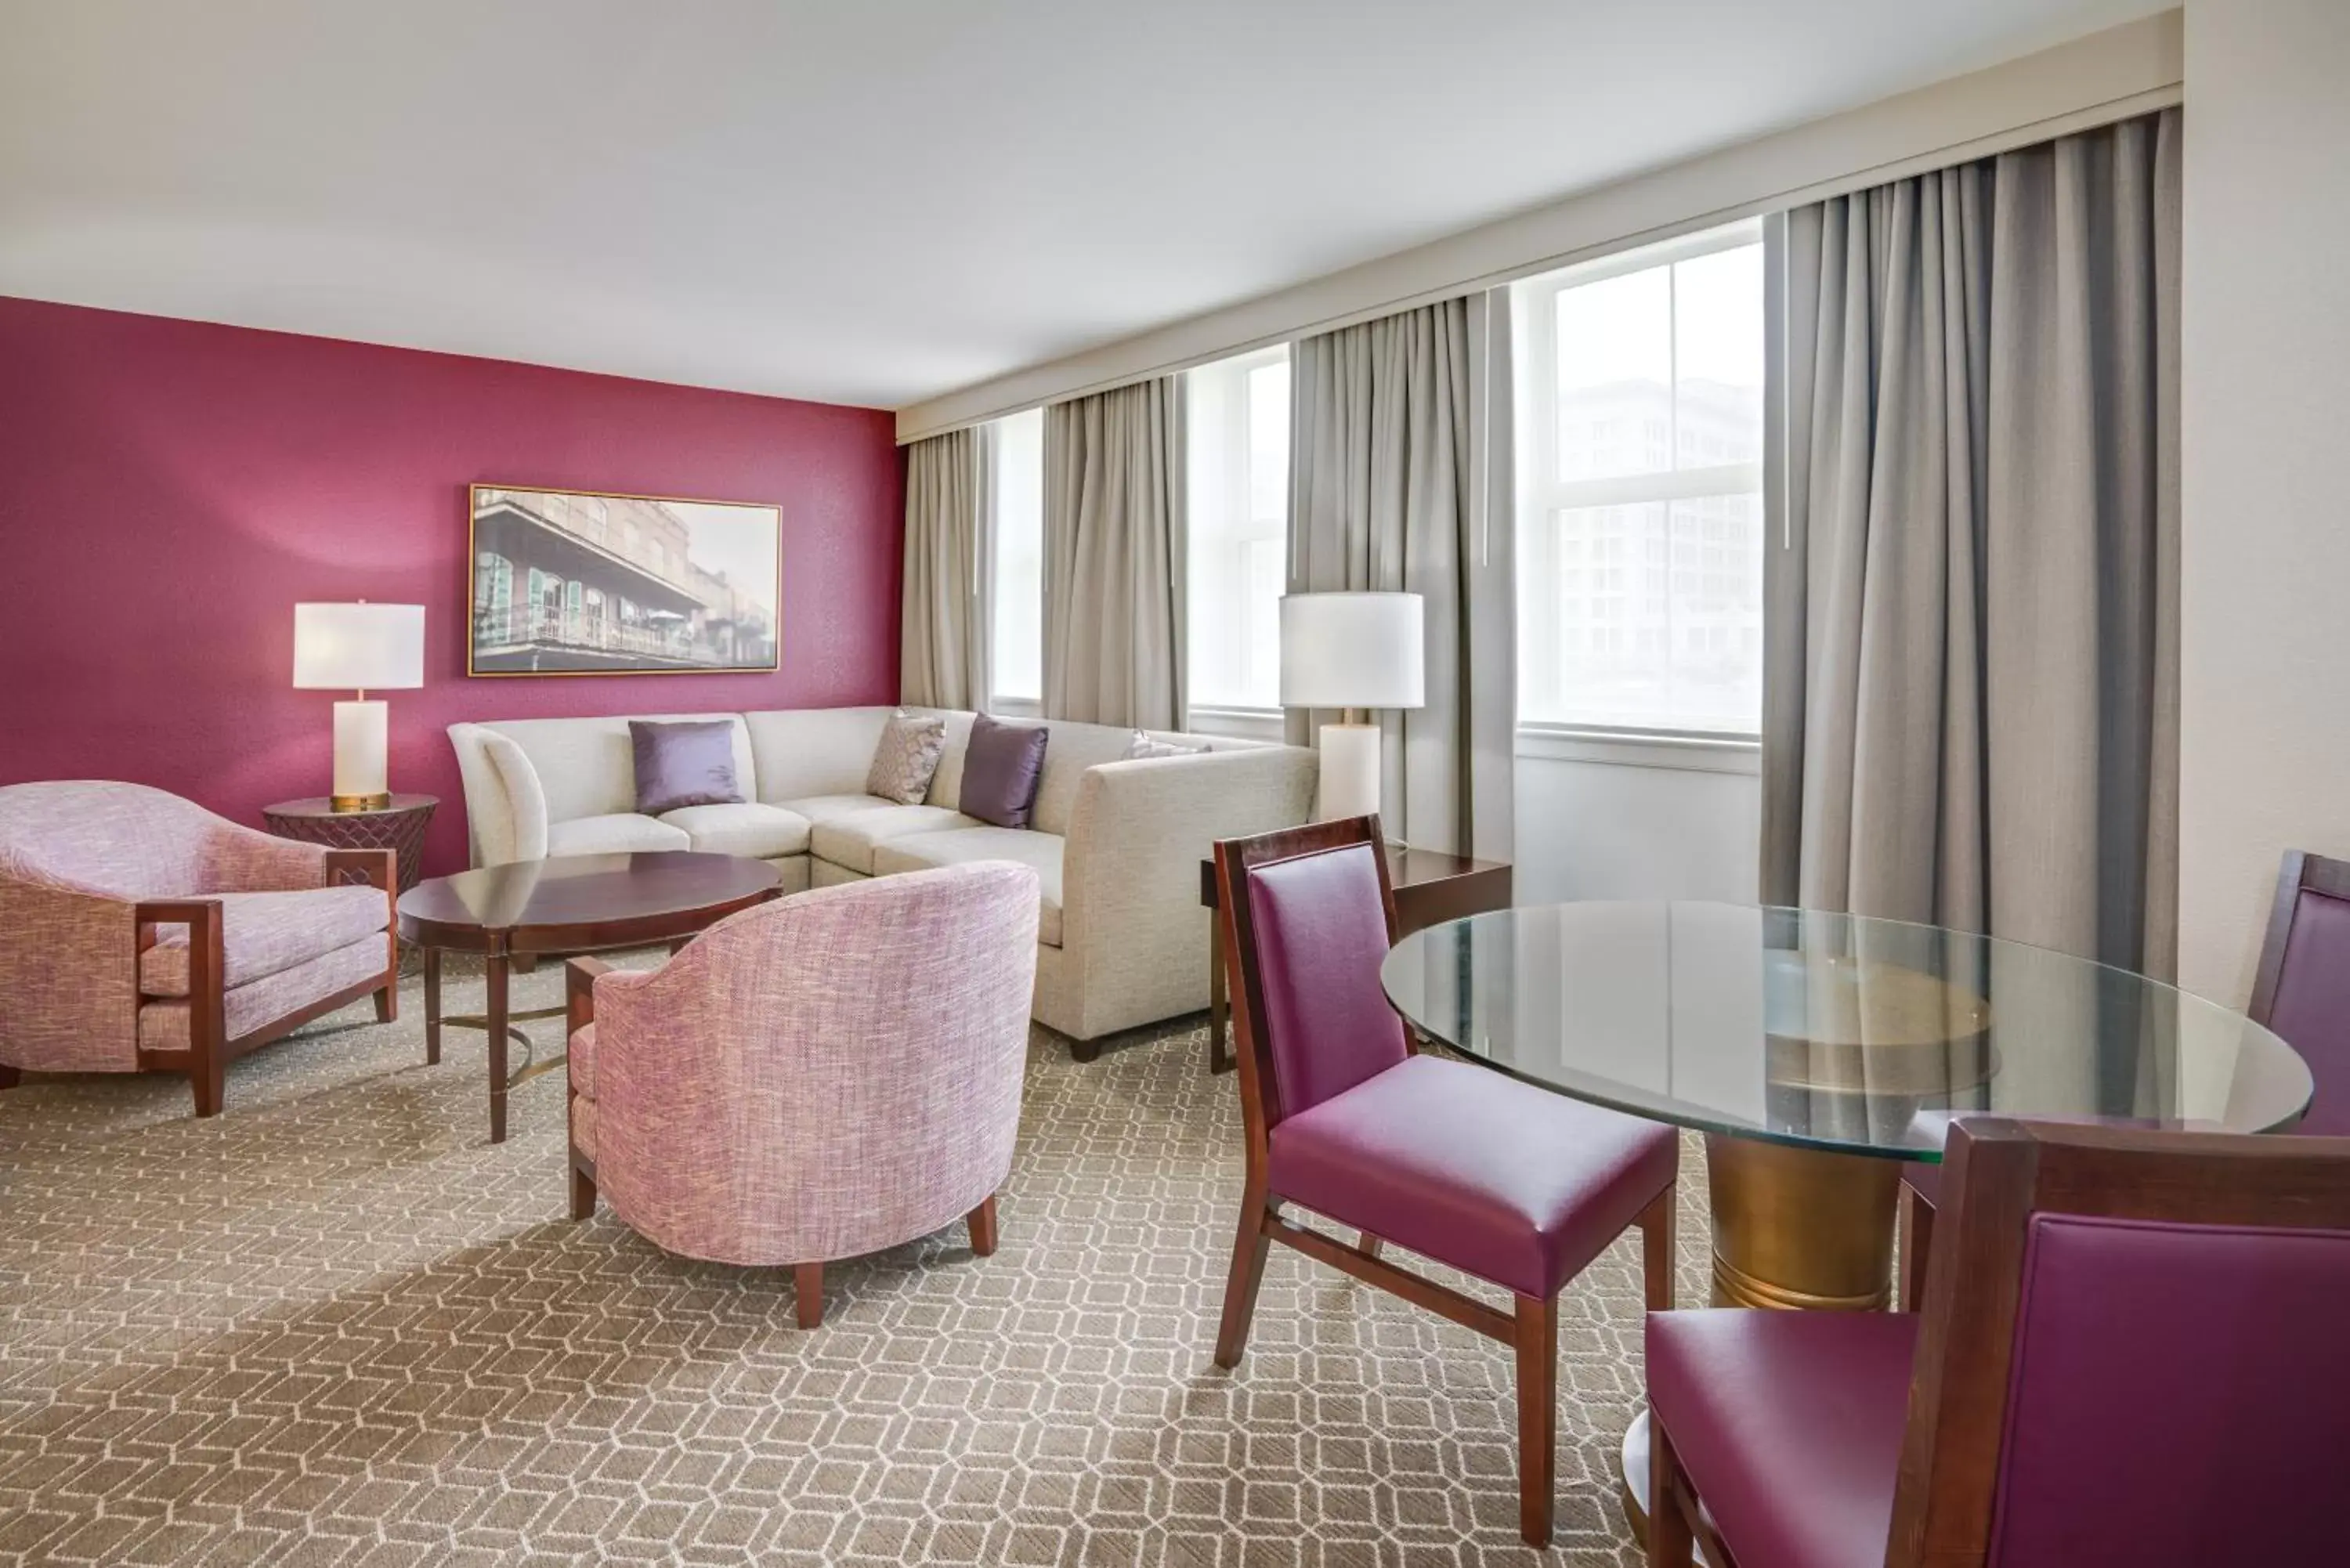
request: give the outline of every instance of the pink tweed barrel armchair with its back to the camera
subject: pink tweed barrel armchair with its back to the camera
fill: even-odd
[[[825,1265],[964,1218],[996,1246],[1020,1131],[1036,872],[978,860],[745,910],[653,971],[571,959],[571,1218]]]

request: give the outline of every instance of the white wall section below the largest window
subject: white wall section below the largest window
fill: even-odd
[[[1518,736],[1518,903],[1755,903],[1762,780],[1753,748]]]

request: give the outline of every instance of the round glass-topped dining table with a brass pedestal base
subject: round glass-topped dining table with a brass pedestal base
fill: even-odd
[[[1713,1305],[1873,1309],[1904,1161],[1969,1112],[2287,1131],[2310,1072],[2214,1001],[2047,947],[1814,910],[1567,903],[1403,938],[1422,1034],[1706,1135]],[[1645,1490],[1645,1418],[1626,1505]],[[1636,1514],[1638,1516],[1638,1514]]]

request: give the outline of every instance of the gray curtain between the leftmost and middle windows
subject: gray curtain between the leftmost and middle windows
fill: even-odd
[[[1182,378],[1043,411],[1043,712],[1184,726]]]

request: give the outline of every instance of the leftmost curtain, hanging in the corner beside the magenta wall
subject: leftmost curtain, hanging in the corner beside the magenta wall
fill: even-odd
[[[994,433],[949,430],[905,449],[905,597],[898,623],[898,701],[987,708],[987,583]]]

